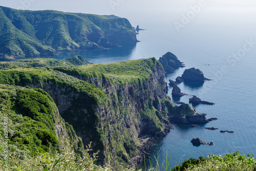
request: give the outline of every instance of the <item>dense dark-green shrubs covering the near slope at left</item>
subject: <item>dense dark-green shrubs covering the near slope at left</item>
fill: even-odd
[[[3,144],[4,139],[8,139],[10,154],[15,152],[20,159],[25,159],[38,155],[38,152],[61,151],[54,125],[58,110],[53,99],[41,89],[0,87],[3,90],[0,92],[0,142]],[[4,133],[4,119],[7,119],[4,114],[8,114],[8,137]],[[69,129],[74,132],[72,126]],[[64,143],[71,144],[68,141],[74,138],[71,134]],[[0,158],[3,156],[1,145]]]

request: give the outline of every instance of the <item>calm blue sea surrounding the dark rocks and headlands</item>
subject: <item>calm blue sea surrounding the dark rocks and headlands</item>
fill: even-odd
[[[189,11],[189,10],[188,10]],[[186,14],[186,11],[183,11]],[[128,18],[136,27],[140,24],[136,45],[123,45],[119,48],[85,52],[63,52],[57,59],[72,55],[82,55],[92,63],[115,62],[140,58],[156,57],[166,52],[174,53],[185,67],[166,75],[175,80],[188,68],[198,68],[206,78],[212,79],[203,84],[178,86],[182,93],[196,95],[215,105],[199,104],[193,106],[197,112],[207,114],[207,118],[218,120],[200,127],[175,125],[174,130],[158,144],[160,163],[171,155],[172,166],[181,164],[191,157],[207,157],[210,154],[225,155],[240,151],[241,154],[256,154],[256,12],[242,11],[201,11],[178,31],[175,22],[181,23],[177,11],[169,15],[158,14],[152,18]],[[136,25],[133,23],[136,21]],[[137,23],[140,21],[140,23]],[[172,89],[168,95],[176,104],[188,103],[192,96],[173,98]],[[176,104],[178,105],[178,104]],[[219,130],[206,130],[204,127],[217,127]],[[234,131],[220,133],[220,130]],[[191,139],[199,137],[214,145],[193,146]],[[154,163],[152,154],[152,162]]]

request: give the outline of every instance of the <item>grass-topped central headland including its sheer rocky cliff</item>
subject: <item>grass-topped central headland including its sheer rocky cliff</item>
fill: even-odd
[[[115,68],[118,62],[111,65]],[[122,165],[135,164],[140,137],[160,137],[170,130],[167,118],[174,106],[165,94],[163,67],[155,58],[127,61],[118,74],[134,71],[131,65],[140,66],[138,72],[146,75],[117,77],[113,71],[88,72],[82,67],[13,69],[0,72],[0,82],[45,90],[83,144],[92,141],[93,149],[100,151],[99,161],[121,170]],[[55,129],[63,139],[65,128],[56,125]]]

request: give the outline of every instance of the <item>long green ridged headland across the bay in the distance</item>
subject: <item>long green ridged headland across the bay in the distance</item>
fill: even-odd
[[[135,42],[135,30],[125,18],[0,6],[0,60]]]

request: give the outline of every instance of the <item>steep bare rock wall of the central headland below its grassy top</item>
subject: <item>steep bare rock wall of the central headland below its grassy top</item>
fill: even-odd
[[[137,155],[133,155],[130,148],[137,150],[135,142],[140,136],[162,137],[172,129],[173,125],[166,118],[168,108],[173,104],[165,93],[164,70],[158,61],[145,81],[124,84],[113,83],[105,76],[87,77],[79,72],[76,74],[74,71],[60,68],[56,70],[58,71],[53,72],[56,74],[56,80],[46,79],[40,83],[32,81],[24,86],[41,88],[48,92],[57,104],[60,115],[73,125],[84,145],[92,141],[93,148],[100,151],[99,159],[104,163],[116,165],[117,158],[123,156],[126,156],[127,163],[136,161],[134,158]],[[104,99],[96,103],[87,94],[74,89],[72,83],[61,83],[58,78],[74,82],[85,80],[102,90]],[[121,138],[124,134],[131,138]],[[123,144],[126,141],[135,145],[125,148]],[[118,145],[123,151],[117,151]],[[141,153],[138,152],[139,154]],[[108,156],[108,159],[105,156]]]

